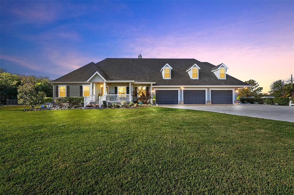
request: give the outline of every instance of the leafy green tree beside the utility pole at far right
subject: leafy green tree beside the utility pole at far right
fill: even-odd
[[[270,85],[270,95],[275,97],[289,97],[291,84],[288,80],[277,80]]]

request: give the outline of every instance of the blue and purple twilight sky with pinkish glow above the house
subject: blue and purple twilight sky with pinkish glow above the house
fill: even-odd
[[[107,57],[224,63],[263,92],[294,72],[294,1],[0,1],[0,66],[56,79]]]

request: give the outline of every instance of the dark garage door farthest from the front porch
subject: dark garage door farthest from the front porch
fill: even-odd
[[[211,90],[211,104],[233,104],[232,90]]]

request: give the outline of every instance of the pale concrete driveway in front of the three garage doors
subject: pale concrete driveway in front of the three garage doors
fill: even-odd
[[[203,110],[241,116],[251,116],[279,121],[294,122],[294,106],[271,105],[159,105],[167,108],[183,108],[191,110]]]

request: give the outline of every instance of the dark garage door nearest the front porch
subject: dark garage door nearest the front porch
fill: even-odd
[[[178,90],[156,90],[156,104],[178,104]]]

